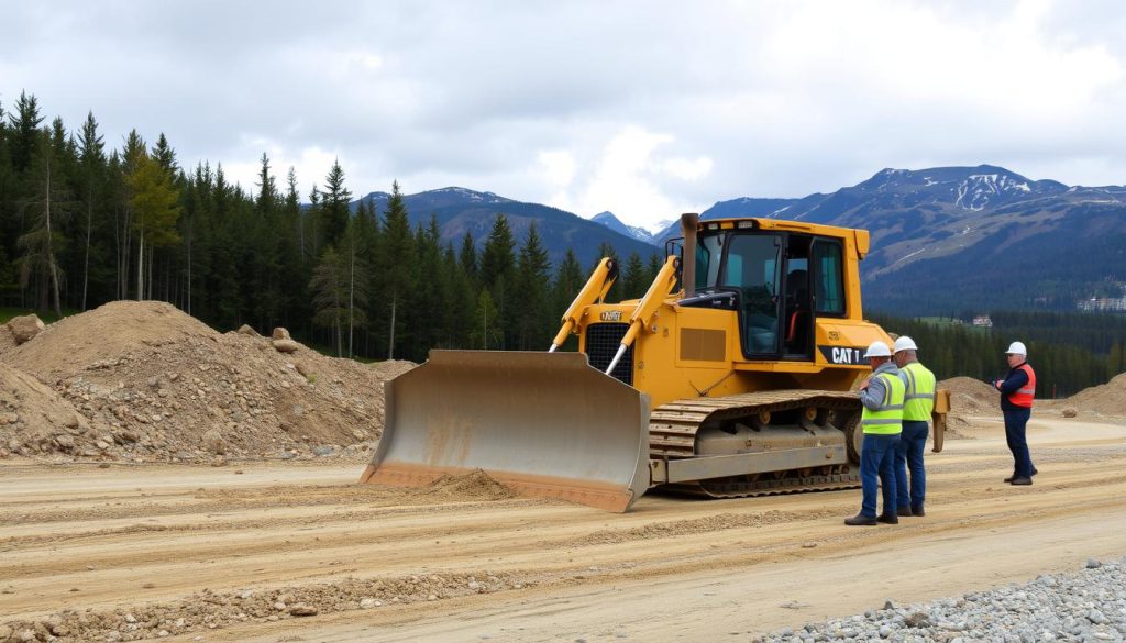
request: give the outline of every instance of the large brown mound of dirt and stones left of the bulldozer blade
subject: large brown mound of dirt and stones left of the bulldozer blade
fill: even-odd
[[[159,302],[66,318],[0,352],[15,367],[0,402],[18,417],[0,426],[0,449],[190,461],[331,455],[378,438],[386,376],[298,347],[283,354],[269,338],[221,334]],[[45,407],[56,410],[38,411]]]

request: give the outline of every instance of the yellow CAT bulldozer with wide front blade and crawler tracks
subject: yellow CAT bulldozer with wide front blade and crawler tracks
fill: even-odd
[[[859,485],[865,230],[681,216],[638,300],[604,258],[546,351],[432,350],[386,383],[360,482],[482,470],[518,493],[624,512],[659,488],[734,498]],[[578,336],[578,351],[558,350]],[[941,449],[949,393],[936,395]]]

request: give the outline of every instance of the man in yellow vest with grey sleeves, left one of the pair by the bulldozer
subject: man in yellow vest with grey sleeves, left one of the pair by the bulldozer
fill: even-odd
[[[903,427],[903,396],[906,393],[900,369],[892,361],[892,350],[883,341],[874,341],[864,354],[872,375],[860,385],[864,410],[860,426],[860,486],[864,500],[860,512],[844,520],[846,525],[899,524],[895,512],[895,448]],[[877,482],[878,476],[878,482]],[[876,489],[883,486],[884,512],[876,516]]]

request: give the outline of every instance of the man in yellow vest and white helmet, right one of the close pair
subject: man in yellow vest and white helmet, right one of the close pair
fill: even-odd
[[[908,336],[895,340],[895,366],[908,385],[903,398],[903,434],[895,449],[896,512],[900,516],[923,516],[927,495],[927,472],[922,452],[927,447],[927,420],[935,410],[935,374],[919,363],[919,347]],[[908,470],[911,472],[910,484]]]

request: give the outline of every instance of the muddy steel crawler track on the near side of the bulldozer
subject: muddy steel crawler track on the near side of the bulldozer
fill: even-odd
[[[804,409],[813,409],[815,421],[832,423],[844,434],[846,444],[851,444],[852,431],[858,430],[860,419],[860,401],[855,394],[837,391],[767,391],[677,400],[653,409],[650,414],[650,457],[665,461],[697,457],[696,434],[705,423],[765,418]],[[855,461],[856,454],[851,448],[849,454],[849,459]],[[704,498],[745,498],[856,489],[859,484],[858,463],[851,462],[815,470],[674,483],[661,489]]]

